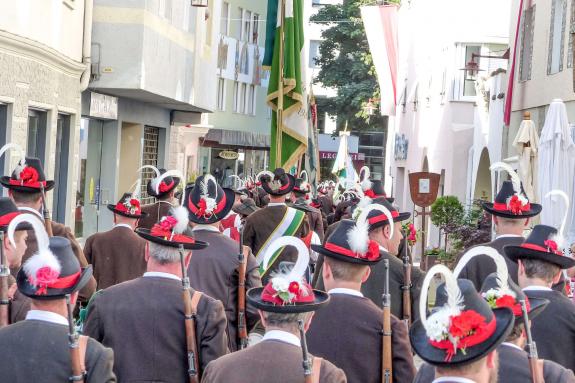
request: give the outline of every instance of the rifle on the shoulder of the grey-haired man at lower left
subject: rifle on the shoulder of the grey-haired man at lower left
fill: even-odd
[[[190,278],[184,263],[184,247],[180,245],[180,264],[182,266],[182,299],[184,301],[184,318],[186,326],[186,348],[188,352],[188,378],[189,383],[199,383],[198,350],[196,345],[196,313],[192,308],[192,296],[190,294]]]

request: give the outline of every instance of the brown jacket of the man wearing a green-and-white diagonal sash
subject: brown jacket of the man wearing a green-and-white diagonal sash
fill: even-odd
[[[280,224],[287,206],[268,206],[250,215],[244,227],[244,245],[249,246],[252,252],[257,255],[260,248],[265,244],[274,229]],[[295,233],[296,237],[303,238],[309,233],[309,224],[303,220]],[[275,264],[270,267],[270,272],[275,270],[280,262],[295,262],[296,251],[291,247],[286,247],[278,257]],[[267,283],[268,272],[262,278],[262,283]]]

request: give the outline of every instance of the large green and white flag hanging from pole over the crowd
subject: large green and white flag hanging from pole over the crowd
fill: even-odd
[[[303,1],[304,0],[270,0],[278,4],[277,14],[281,16],[281,5],[284,10],[284,62],[283,62],[283,121],[281,124],[281,153],[278,153],[277,109],[279,98],[280,74],[280,17],[276,23],[273,43],[272,69],[270,73],[267,103],[272,108],[270,163],[275,166],[276,158],[281,158],[285,169],[297,163],[305,152],[308,142],[307,100],[305,97],[305,70],[303,46]],[[266,44],[267,45],[267,44]]]

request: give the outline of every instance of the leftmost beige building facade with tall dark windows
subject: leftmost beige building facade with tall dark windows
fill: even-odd
[[[0,3],[0,146],[19,144],[56,181],[47,202],[72,224],[78,170],[81,92],[90,76],[91,1]],[[18,161],[0,159],[2,174]],[[6,194],[3,190],[2,193]]]

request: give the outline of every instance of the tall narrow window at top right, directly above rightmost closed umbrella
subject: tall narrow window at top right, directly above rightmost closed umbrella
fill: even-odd
[[[566,16],[567,0],[551,0],[547,74],[555,74],[563,70]]]

